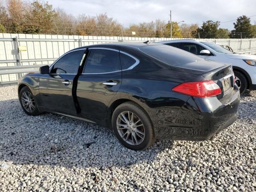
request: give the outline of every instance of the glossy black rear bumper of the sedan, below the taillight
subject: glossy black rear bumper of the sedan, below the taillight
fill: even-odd
[[[224,101],[216,97],[189,98],[176,111],[165,110],[154,126],[157,140],[208,140],[236,121],[240,93],[238,88]]]

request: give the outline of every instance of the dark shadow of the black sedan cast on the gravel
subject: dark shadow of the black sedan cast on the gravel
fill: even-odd
[[[18,99],[0,101],[0,108],[0,164],[129,168],[156,161],[173,147],[166,140],[145,151],[130,150],[108,128],[50,113],[28,116]]]

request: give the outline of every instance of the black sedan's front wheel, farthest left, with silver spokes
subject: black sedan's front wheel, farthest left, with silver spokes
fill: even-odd
[[[27,86],[20,90],[19,100],[20,105],[26,114],[32,116],[37,116],[40,114],[34,95]]]

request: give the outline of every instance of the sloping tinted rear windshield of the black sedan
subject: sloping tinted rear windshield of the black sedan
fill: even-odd
[[[143,46],[140,50],[145,54],[172,66],[203,60],[190,52],[168,45]]]

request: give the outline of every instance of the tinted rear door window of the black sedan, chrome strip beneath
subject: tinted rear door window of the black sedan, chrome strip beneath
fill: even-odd
[[[86,60],[84,73],[108,73],[121,70],[119,52],[92,49]]]

